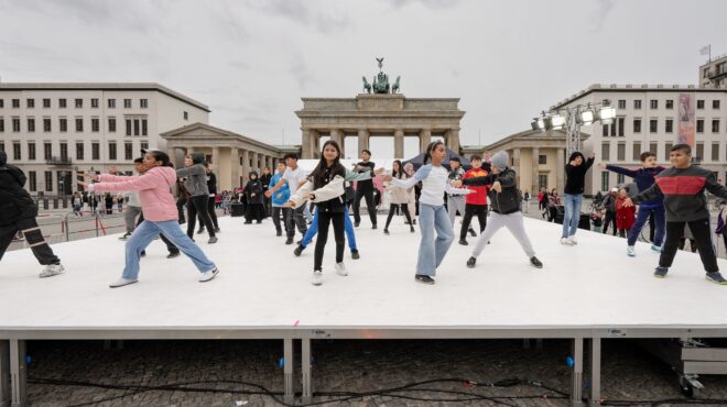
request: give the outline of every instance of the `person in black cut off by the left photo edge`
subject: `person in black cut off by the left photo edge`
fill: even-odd
[[[23,189],[23,185],[25,185],[25,174],[17,166],[9,165],[8,155],[4,151],[0,151],[0,260],[6,254],[12,238],[21,231],[35,258],[45,266],[39,276],[53,277],[63,273],[65,268],[43,239],[41,228],[35,222],[37,207]]]

